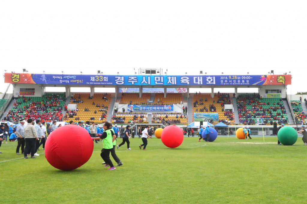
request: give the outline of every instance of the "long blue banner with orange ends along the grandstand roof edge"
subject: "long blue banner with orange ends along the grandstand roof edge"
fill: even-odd
[[[58,85],[180,86],[290,85],[291,75],[74,75],[5,73],[5,83]],[[181,88],[182,89],[182,88]],[[176,89],[177,90],[177,89]],[[178,90],[177,90],[178,91]],[[186,93],[184,90],[173,93]]]

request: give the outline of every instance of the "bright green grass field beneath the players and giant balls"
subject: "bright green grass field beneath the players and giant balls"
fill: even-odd
[[[141,143],[134,138],[132,150],[116,149],[123,165],[113,171],[101,164],[103,143],[94,144],[90,160],[69,172],[53,168],[44,150],[23,159],[15,154],[17,142],[2,144],[0,202],[306,203],[307,146],[301,137],[292,146],[277,145],[277,137],[184,138],[175,149],[153,138],[146,151]]]

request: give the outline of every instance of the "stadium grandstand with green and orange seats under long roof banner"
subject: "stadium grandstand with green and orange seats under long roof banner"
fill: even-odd
[[[18,123],[21,118],[64,124],[112,121],[122,125],[199,128],[204,122],[224,123],[228,130],[249,125],[255,131],[306,124],[306,104],[300,96],[286,93],[291,75],[66,75],[5,73],[5,83],[13,94],[0,100],[2,122]],[[47,92],[47,87],[63,87],[65,92]],[[71,92],[72,87],[88,87],[90,92]],[[95,93],[95,88],[114,88],[112,93]],[[190,90],[210,89],[210,93]],[[229,93],[219,89],[228,88]],[[239,93],[240,88],[258,88],[258,93]],[[303,96],[304,98],[304,96]],[[260,125],[260,126],[259,126]]]

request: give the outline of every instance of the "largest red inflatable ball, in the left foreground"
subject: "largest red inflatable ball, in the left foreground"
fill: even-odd
[[[85,164],[94,149],[87,130],[78,125],[65,125],[53,130],[45,143],[45,157],[53,167],[70,171]]]

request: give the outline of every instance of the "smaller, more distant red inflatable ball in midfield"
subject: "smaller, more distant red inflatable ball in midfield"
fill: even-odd
[[[169,148],[176,148],[183,141],[183,131],[176,125],[167,126],[161,133],[161,141]]]

